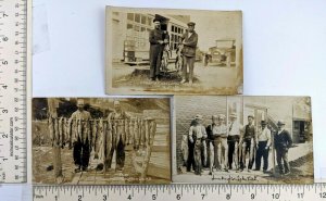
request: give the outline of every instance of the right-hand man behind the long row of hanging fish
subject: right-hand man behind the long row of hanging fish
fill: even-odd
[[[130,117],[126,114],[125,111],[123,111],[121,109],[121,104],[120,101],[115,100],[113,102],[114,105],[114,111],[112,113],[109,114],[108,120],[110,121],[116,121],[116,126],[117,126],[117,133],[115,134],[116,136],[113,137],[113,139],[115,139],[115,141],[112,141],[113,146],[111,148],[111,150],[106,150],[108,154],[105,155],[105,168],[111,168],[111,164],[112,164],[112,158],[113,158],[113,153],[115,151],[115,169],[117,171],[122,171],[124,165],[125,165],[125,146],[126,142],[123,139],[123,134],[122,134],[122,127],[123,127],[123,120],[129,120]]]

